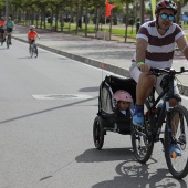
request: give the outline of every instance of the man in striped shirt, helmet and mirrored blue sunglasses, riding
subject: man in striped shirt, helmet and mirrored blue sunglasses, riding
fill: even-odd
[[[136,52],[130,66],[130,76],[137,82],[136,105],[133,114],[133,124],[144,125],[144,103],[155,85],[157,93],[161,93],[161,76],[149,75],[150,67],[171,69],[175,43],[188,59],[188,44],[181,28],[174,23],[177,6],[171,0],[161,0],[156,6],[156,20],[144,23],[137,33]],[[179,91],[175,84],[175,94]],[[170,106],[177,101],[170,100]],[[180,155],[178,146],[173,145],[170,150]]]

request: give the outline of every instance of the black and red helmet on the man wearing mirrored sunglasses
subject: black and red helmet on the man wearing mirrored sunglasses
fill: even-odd
[[[171,9],[174,11],[174,14],[176,15],[178,8],[176,3],[171,0],[161,0],[157,3],[155,13],[158,13],[161,9]]]

